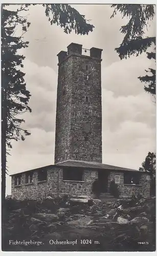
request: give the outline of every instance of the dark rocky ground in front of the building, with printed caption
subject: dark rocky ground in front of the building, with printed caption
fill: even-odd
[[[40,245],[12,242],[9,245],[9,240],[36,241]],[[53,244],[53,241],[63,243]],[[85,196],[48,197],[42,201],[8,198],[2,223],[2,249],[154,251],[155,198],[112,201]]]

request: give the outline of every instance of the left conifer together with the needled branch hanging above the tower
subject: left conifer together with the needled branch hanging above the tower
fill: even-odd
[[[35,5],[35,4],[33,4]],[[19,50],[28,47],[29,42],[23,41],[30,23],[27,18],[20,16],[22,11],[28,11],[31,4],[18,5],[16,11],[2,5],[2,204],[5,202],[6,190],[6,156],[8,148],[12,148],[12,140],[25,140],[31,133],[21,124],[25,122],[20,117],[28,106],[30,92],[26,89],[25,73],[21,71],[24,55]],[[88,24],[84,15],[68,4],[42,4],[51,25],[57,24],[65,33],[72,30],[77,34],[88,34],[94,26]],[[17,36],[16,28],[21,26],[21,35]]]

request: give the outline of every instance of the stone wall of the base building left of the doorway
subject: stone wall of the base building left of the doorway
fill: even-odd
[[[43,199],[56,194],[88,195],[92,192],[92,183],[98,177],[94,170],[84,170],[83,181],[63,181],[62,168],[47,169],[47,181],[38,181],[38,171],[33,172],[33,182],[26,184],[26,173],[21,174],[21,184],[14,186],[12,176],[11,194],[18,199]],[[59,185],[58,185],[59,181]]]

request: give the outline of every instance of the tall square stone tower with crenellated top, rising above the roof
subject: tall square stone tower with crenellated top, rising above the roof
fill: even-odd
[[[55,163],[102,162],[101,49],[58,53]]]

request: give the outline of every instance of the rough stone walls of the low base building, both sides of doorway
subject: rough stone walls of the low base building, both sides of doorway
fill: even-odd
[[[75,171],[75,170],[74,170]],[[119,177],[119,178],[118,178]],[[147,174],[141,174],[140,185],[124,184],[122,172],[110,172],[108,176],[108,191],[110,181],[118,180],[121,196],[131,196],[141,193],[150,196],[150,180]],[[26,173],[21,174],[21,185],[14,186],[15,176],[12,176],[11,193],[18,199],[43,199],[54,194],[90,195],[92,183],[98,178],[96,170],[84,169],[83,181],[63,181],[62,168],[47,168],[47,181],[38,181],[37,170],[33,173],[33,183],[26,184]],[[59,185],[58,185],[59,181]]]

